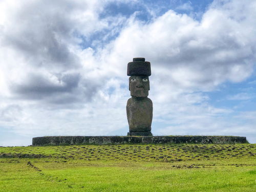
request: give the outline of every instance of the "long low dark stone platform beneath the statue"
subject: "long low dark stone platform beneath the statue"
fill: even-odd
[[[248,143],[246,137],[237,136],[49,136],[34,137],[34,146],[75,144],[149,144],[149,143]]]

